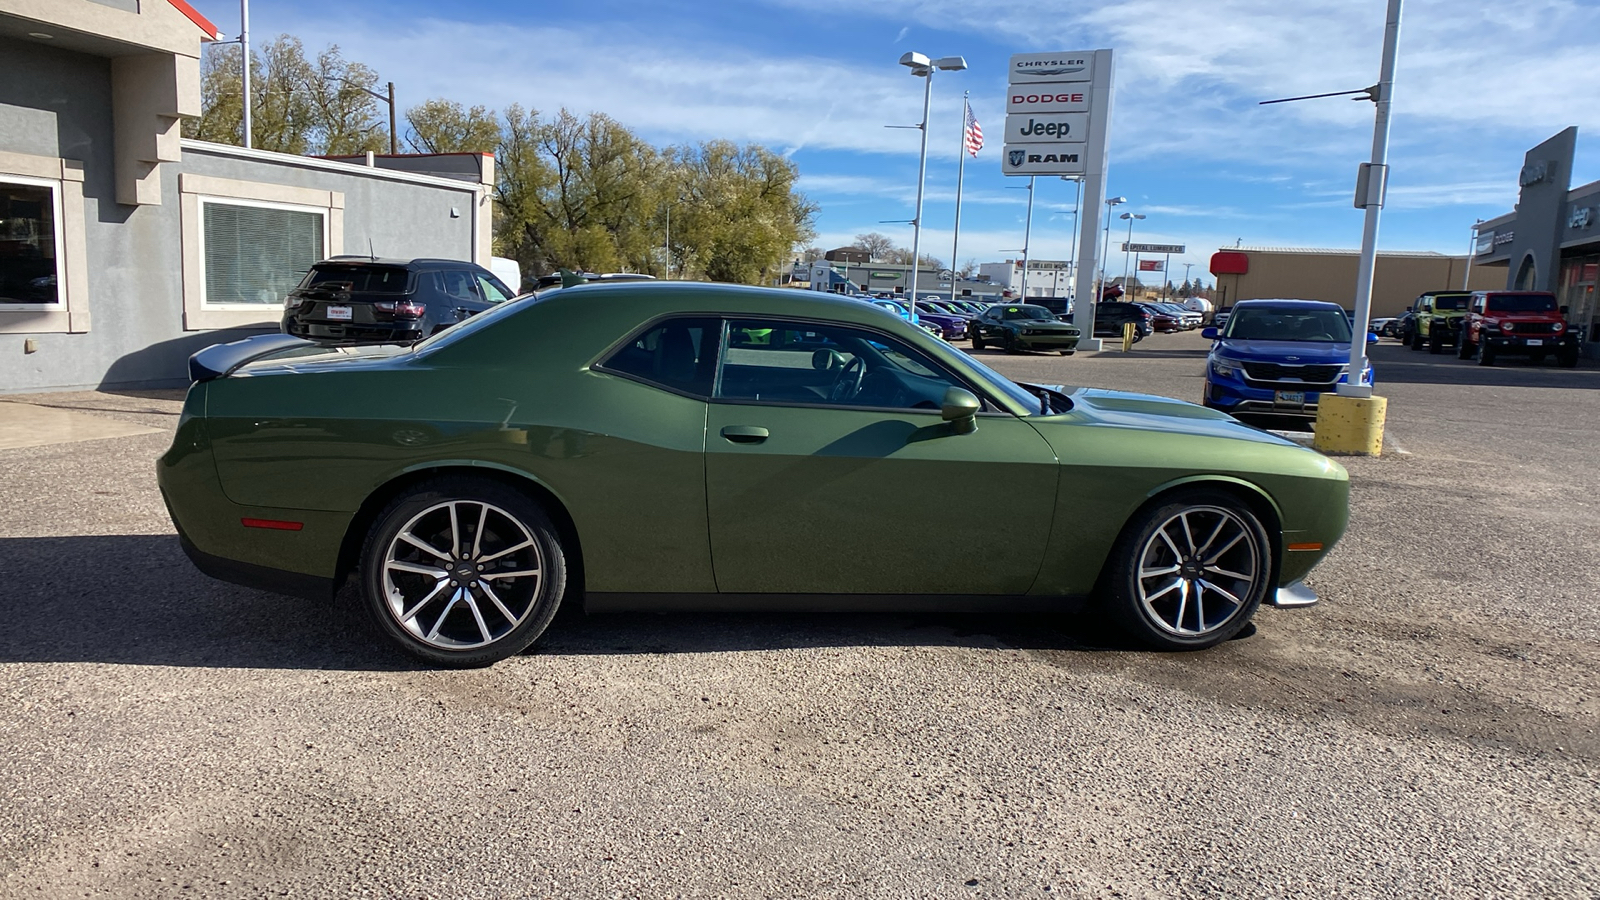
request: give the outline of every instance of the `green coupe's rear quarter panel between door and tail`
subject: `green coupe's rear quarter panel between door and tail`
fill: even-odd
[[[213,383],[206,418],[222,492],[352,514],[406,472],[488,466],[565,506],[589,589],[715,589],[706,404],[589,370],[627,328],[550,312],[438,352]]]

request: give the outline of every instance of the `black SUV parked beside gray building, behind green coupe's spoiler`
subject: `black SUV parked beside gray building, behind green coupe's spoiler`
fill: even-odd
[[[512,298],[461,259],[333,256],[283,301],[283,333],[341,344],[411,343]]]

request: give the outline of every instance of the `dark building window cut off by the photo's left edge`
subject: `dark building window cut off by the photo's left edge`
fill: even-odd
[[[0,304],[5,309],[61,306],[59,183],[0,181]]]

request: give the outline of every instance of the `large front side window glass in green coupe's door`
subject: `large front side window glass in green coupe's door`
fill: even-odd
[[[938,412],[966,388],[915,348],[830,323],[739,319],[723,338],[717,397]]]

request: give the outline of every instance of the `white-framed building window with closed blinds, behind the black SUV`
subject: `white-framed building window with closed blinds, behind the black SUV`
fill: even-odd
[[[282,306],[326,256],[326,210],[203,199],[200,216],[208,307]]]

